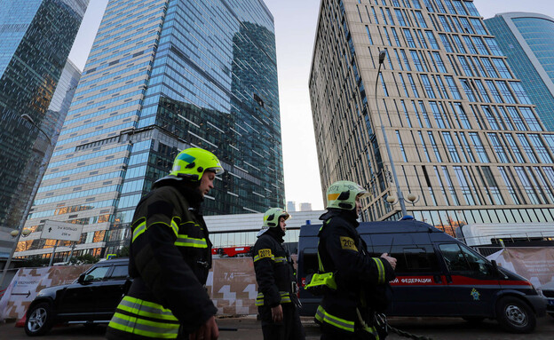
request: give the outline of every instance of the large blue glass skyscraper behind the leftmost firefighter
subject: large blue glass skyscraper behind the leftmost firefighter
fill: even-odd
[[[83,225],[75,255],[116,252],[140,197],[190,146],[226,170],[204,214],[284,205],[271,12],[261,0],[110,0],[16,256],[50,254],[46,219]]]

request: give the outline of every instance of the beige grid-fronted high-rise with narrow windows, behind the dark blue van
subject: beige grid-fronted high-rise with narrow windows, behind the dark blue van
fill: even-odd
[[[364,220],[401,217],[391,161],[448,232],[554,220],[554,135],[471,1],[321,1],[309,86],[322,188],[367,187]]]

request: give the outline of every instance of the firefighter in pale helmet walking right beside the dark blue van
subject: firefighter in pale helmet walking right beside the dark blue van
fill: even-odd
[[[318,234],[319,272],[329,275],[315,315],[321,340],[379,339],[372,298],[378,286],[394,279],[396,258],[386,253],[370,257],[356,231],[360,199],[366,193],[362,186],[345,180],[327,190],[328,211],[320,217],[323,225]]]

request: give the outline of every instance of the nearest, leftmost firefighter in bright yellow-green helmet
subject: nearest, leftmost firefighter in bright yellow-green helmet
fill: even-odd
[[[214,154],[187,148],[139,202],[131,224],[131,288],[108,339],[217,339],[218,312],[205,289],[211,242],[200,207],[224,172]]]

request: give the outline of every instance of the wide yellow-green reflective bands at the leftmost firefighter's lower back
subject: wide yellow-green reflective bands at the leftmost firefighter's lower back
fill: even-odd
[[[123,297],[108,327],[138,336],[175,339],[178,336],[179,322],[161,304],[136,297]]]

